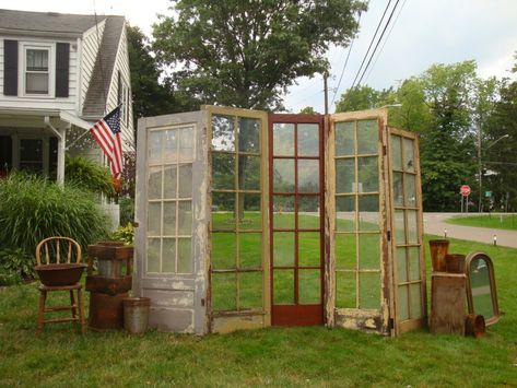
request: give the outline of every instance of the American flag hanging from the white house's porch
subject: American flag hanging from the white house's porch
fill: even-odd
[[[90,128],[97,144],[109,160],[111,175],[120,177],[122,173],[122,144],[120,141],[120,106],[117,106],[104,118]]]

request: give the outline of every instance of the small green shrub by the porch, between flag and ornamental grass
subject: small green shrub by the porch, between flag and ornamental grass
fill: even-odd
[[[82,156],[66,156],[64,181],[95,193],[115,196],[109,168]]]

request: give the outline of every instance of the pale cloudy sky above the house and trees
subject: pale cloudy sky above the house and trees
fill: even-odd
[[[368,11],[361,16],[361,27],[344,72],[349,48],[330,48],[330,113],[334,110],[332,102],[336,103],[352,85],[387,3],[388,0],[371,0]],[[390,9],[395,3],[393,0]],[[23,11],[120,14],[146,35],[157,21],[156,14],[169,13],[168,5],[167,0],[2,0],[0,3],[0,8]],[[510,77],[508,71],[516,62],[514,54],[517,51],[516,21],[516,0],[400,0],[387,35],[361,84],[374,89],[397,86],[433,63],[449,64],[470,59],[478,62],[478,73],[482,78]],[[287,110],[297,113],[312,106],[322,113],[321,77],[302,78],[296,82],[284,97]]]

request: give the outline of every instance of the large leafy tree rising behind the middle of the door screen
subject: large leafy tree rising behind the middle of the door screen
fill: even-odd
[[[357,31],[360,0],[173,1],[154,26],[160,63],[174,67],[177,90],[196,99],[245,108],[281,108],[298,77],[328,69],[330,44]]]

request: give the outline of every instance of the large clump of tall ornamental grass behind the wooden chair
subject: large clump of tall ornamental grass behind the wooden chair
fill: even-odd
[[[93,195],[81,187],[13,173],[0,180],[0,246],[34,255],[50,236],[67,236],[83,247],[107,235],[109,222]]]

